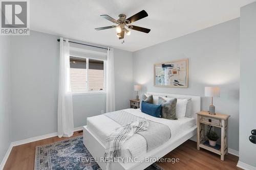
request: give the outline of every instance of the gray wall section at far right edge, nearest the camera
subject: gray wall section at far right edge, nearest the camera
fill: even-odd
[[[240,137],[239,161],[256,168],[256,144],[248,138],[256,129],[255,75],[256,75],[256,3],[241,8],[240,32]]]

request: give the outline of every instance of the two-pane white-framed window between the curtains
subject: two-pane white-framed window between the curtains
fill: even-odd
[[[104,61],[70,57],[70,81],[75,93],[104,91]]]

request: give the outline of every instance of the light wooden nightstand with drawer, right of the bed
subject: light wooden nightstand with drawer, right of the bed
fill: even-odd
[[[211,115],[206,111],[197,113],[197,150],[200,148],[214,152],[221,155],[221,160],[224,161],[224,155],[228,152],[228,118],[227,114],[216,113]],[[204,142],[207,140],[205,135],[205,125],[221,128],[221,146],[217,150],[215,148],[205,145]]]

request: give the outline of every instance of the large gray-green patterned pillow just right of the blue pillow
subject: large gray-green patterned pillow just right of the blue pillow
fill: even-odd
[[[176,118],[177,99],[176,98],[166,101],[162,97],[159,96],[158,104],[162,106],[162,110],[161,110],[162,118],[166,118],[166,119],[170,119],[170,120],[177,120],[177,118]]]

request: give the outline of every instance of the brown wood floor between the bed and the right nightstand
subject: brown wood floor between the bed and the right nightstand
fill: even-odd
[[[187,140],[178,148],[165,155],[163,158],[179,158],[179,163],[158,163],[165,170],[173,169],[242,169],[237,167],[238,157],[228,154],[225,155],[225,160],[220,160],[220,155],[211,153],[207,150],[197,150],[197,143],[192,140]]]

